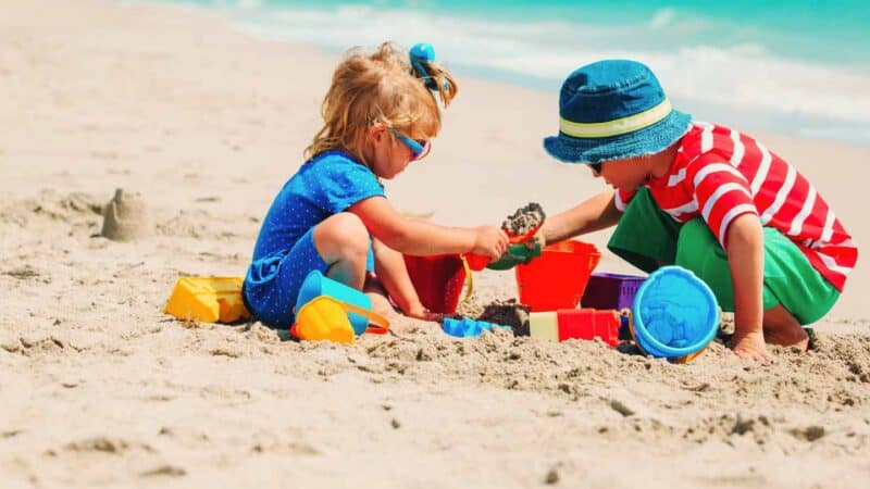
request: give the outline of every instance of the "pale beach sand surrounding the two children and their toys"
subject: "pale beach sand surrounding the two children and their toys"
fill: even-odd
[[[178,277],[244,274],[337,57],[176,7],[0,12],[0,487],[870,482],[862,263],[816,348],[765,364],[718,343],[673,365],[599,342],[463,341],[410,319],[353,346],[177,322],[162,311]],[[460,84],[431,156],[387,185],[398,209],[499,224],[602,188],[540,148],[557,93]],[[870,242],[868,148],[762,139]],[[100,236],[116,188],[141,195],[150,237]],[[607,253],[599,269],[630,271]],[[514,294],[511,273],[476,286]]]

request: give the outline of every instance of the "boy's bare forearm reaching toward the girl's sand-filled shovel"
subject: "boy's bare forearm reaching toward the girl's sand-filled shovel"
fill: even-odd
[[[622,212],[617,209],[616,192],[606,190],[573,209],[547,217],[538,236],[543,236],[544,243],[558,242],[614,226],[620,216]]]

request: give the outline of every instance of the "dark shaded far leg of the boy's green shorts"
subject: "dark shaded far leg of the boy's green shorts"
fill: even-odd
[[[607,248],[649,273],[674,262],[679,234],[680,223],[662,212],[642,187],[625,208]]]

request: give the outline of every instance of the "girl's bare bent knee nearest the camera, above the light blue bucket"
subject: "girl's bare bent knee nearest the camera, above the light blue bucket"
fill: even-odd
[[[330,266],[326,276],[362,290],[371,247],[362,221],[349,212],[332,215],[314,227],[313,238],[318,254]]]

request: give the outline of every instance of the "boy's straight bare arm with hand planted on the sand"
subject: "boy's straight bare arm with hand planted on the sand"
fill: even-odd
[[[734,353],[750,360],[770,358],[765,347],[761,288],[765,233],[756,214],[743,214],[728,227],[728,264],[734,288]]]

